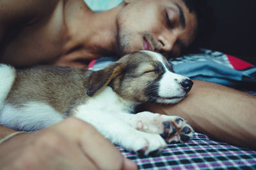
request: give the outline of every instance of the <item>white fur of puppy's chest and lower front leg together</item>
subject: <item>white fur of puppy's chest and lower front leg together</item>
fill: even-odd
[[[127,150],[147,148],[147,155],[153,150],[163,149],[166,143],[159,134],[148,134],[134,128],[134,115],[129,114],[133,111],[131,106],[134,106],[131,102],[117,96],[111,87],[106,87],[86,104],[78,106],[74,116],[92,124],[105,138]]]

